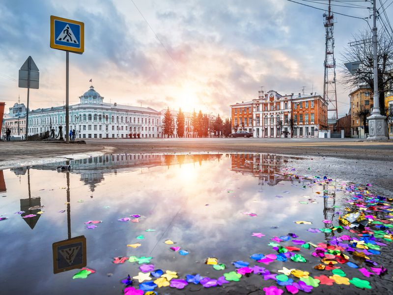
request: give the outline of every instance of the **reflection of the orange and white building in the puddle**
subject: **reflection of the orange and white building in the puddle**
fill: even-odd
[[[275,154],[232,154],[231,170],[257,176],[259,177],[259,184],[276,185],[281,180],[286,179],[280,172],[280,167],[287,162],[286,159]]]

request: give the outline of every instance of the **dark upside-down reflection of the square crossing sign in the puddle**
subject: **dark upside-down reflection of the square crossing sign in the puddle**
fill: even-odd
[[[77,236],[53,243],[53,273],[86,266],[86,238]]]

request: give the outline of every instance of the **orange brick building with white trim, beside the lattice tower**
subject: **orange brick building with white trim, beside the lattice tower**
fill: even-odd
[[[232,132],[245,130],[256,138],[313,138],[328,128],[328,103],[312,93],[294,96],[260,90],[257,99],[230,107]]]

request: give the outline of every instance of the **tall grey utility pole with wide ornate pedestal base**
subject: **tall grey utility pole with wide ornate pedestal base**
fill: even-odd
[[[373,65],[374,65],[374,107],[371,112],[371,116],[367,118],[368,120],[368,130],[369,137],[367,140],[387,140],[386,136],[386,117],[381,115],[381,110],[379,108],[379,93],[378,93],[378,52],[377,52],[377,7],[376,0],[373,0],[372,7],[372,51],[373,51]]]

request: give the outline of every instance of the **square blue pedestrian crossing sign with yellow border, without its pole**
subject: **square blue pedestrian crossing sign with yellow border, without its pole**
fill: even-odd
[[[51,15],[51,48],[82,54],[84,23]]]

